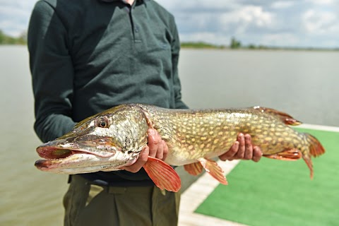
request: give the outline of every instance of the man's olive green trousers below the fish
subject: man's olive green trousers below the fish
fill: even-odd
[[[64,196],[64,225],[174,226],[179,201],[179,193],[156,186],[97,186],[73,175]]]

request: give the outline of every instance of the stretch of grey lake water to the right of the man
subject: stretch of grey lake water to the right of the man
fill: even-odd
[[[339,126],[339,52],[182,51],[190,107],[273,107],[307,124]]]

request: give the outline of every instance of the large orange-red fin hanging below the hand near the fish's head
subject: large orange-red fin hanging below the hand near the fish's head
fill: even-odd
[[[177,192],[182,186],[177,172],[162,160],[148,156],[148,160],[145,165],[143,165],[143,168],[150,179],[153,180],[154,184],[161,190],[165,189],[167,191]]]

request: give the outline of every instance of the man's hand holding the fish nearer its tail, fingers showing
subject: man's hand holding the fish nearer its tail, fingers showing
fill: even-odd
[[[219,156],[220,160],[254,160],[258,162],[263,153],[257,146],[252,145],[251,136],[239,133],[237,141],[234,142],[230,150]]]

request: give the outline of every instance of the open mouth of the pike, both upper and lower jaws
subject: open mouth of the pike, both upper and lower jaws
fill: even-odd
[[[65,144],[62,141],[40,145],[37,153],[44,160],[37,160],[35,167],[60,174],[113,171],[133,164],[138,158],[138,153],[123,152],[110,145],[80,147],[81,144]]]

